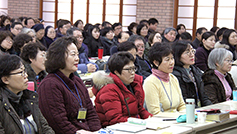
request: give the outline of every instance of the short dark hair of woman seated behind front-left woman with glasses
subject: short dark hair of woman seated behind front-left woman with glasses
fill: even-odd
[[[39,42],[30,42],[27,45],[25,45],[22,49],[21,52],[21,58],[26,61],[27,63],[31,63],[30,59],[35,59],[37,54],[38,54],[38,50],[40,51],[46,51],[46,47],[43,46],[41,43]]]

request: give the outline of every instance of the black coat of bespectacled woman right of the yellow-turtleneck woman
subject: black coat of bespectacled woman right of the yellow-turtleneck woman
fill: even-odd
[[[196,66],[192,66],[192,65],[190,66],[190,68],[192,70],[193,76],[196,81],[196,85],[198,88],[198,95],[199,95],[199,99],[201,101],[201,106],[211,105],[212,103],[208,99],[208,97],[205,93],[205,90],[204,90],[204,83],[202,81],[201,70],[199,68],[197,68]],[[183,95],[184,101],[186,100],[186,98],[194,98],[195,104],[197,107],[197,93],[196,93],[195,85],[194,85],[193,81],[189,78],[189,75],[188,75],[188,72],[186,71],[186,69],[184,67],[175,66],[173,74],[179,80],[179,85],[182,90],[182,95]]]

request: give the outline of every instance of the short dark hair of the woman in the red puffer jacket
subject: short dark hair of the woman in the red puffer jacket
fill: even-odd
[[[115,71],[118,71],[118,73],[121,74],[123,67],[131,61],[134,62],[135,59],[129,52],[117,52],[109,59],[108,68],[113,74]]]

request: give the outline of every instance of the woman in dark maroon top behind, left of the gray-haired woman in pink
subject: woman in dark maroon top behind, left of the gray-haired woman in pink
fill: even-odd
[[[215,34],[213,32],[205,32],[202,34],[202,40],[200,47],[197,48],[196,63],[195,65],[205,71],[208,69],[207,59],[211,50],[214,48],[216,43]]]

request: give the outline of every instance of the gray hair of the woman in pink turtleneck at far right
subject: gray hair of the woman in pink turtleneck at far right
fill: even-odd
[[[233,54],[225,48],[215,48],[208,56],[208,67],[210,69],[217,69],[216,63],[223,66],[224,60],[230,56],[233,58]]]

